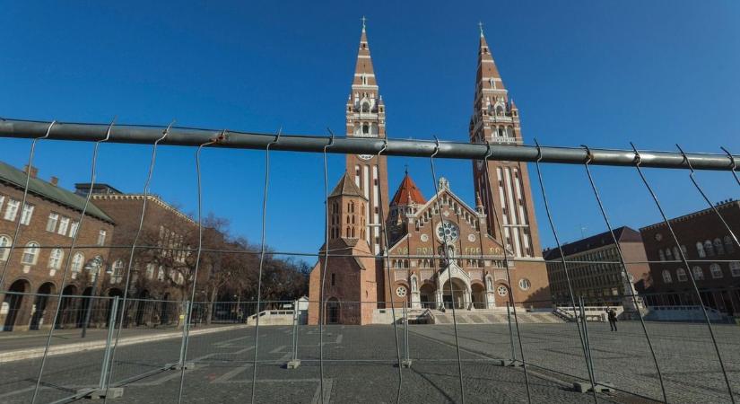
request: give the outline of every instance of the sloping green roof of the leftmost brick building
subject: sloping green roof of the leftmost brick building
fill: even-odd
[[[0,162],[0,181],[6,182],[13,187],[25,189],[26,178],[28,174],[25,171],[18,170],[12,165]],[[71,209],[82,212],[85,206],[86,198],[76,195],[74,192],[61,187],[52,185],[51,183],[40,180],[35,177],[31,177],[29,180],[29,192],[39,196],[40,198],[46,198],[59,205],[69,207]],[[114,223],[113,219],[106,215],[98,206],[95,206],[90,202],[85,210],[86,215],[91,215],[100,220]]]

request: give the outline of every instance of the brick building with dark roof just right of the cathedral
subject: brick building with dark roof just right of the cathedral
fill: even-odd
[[[577,242],[562,245],[568,267],[573,297],[583,297],[589,305],[624,305],[634,310],[632,292],[643,292],[649,284],[649,265],[640,233],[630,227],[614,229],[614,243],[609,232],[596,234]],[[624,277],[619,251],[622,250],[627,268]],[[555,304],[570,304],[570,288],[562,264],[561,251],[557,248],[543,251],[547,261],[547,277]],[[638,308],[643,308],[638,297]]]

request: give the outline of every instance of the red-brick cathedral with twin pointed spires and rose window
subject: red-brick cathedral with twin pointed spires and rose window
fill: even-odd
[[[473,105],[471,143],[522,143],[518,109],[483,30]],[[345,114],[346,136],[386,136],[386,106],[364,23]],[[520,307],[549,306],[527,164],[489,161],[487,171],[484,164],[473,162],[470,206],[444,178],[439,192],[425,198],[408,172],[388,199],[387,157],[348,154],[346,171],[327,200],[328,243],[310,273],[309,324],[319,321],[322,283],[324,321],[330,324],[388,323],[391,302],[398,310],[406,305],[410,316],[453,306],[505,311],[512,297]]]

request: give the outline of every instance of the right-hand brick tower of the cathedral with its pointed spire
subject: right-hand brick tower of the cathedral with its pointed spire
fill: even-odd
[[[482,25],[470,142],[491,145],[521,145],[523,142],[519,111],[501,81]],[[541,257],[527,163],[489,161],[488,178],[484,164],[483,161],[473,162],[473,180],[487,215],[488,233],[515,257]],[[496,221],[501,221],[503,234]]]

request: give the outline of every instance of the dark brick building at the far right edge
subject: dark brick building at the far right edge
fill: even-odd
[[[740,234],[740,201],[728,200],[715,207],[732,233]],[[698,304],[693,277],[704,305],[736,314],[740,310],[740,246],[736,238],[710,208],[675,217],[669,223],[680,247],[664,222],[640,228],[652,279],[646,294],[648,303]],[[681,252],[691,268],[686,268]]]

